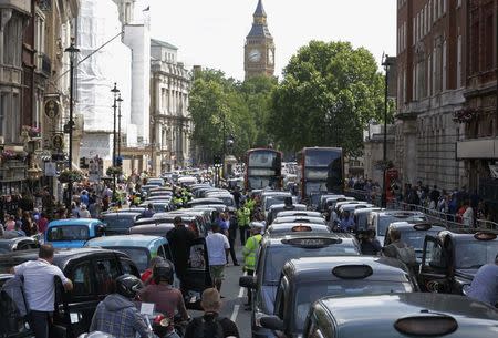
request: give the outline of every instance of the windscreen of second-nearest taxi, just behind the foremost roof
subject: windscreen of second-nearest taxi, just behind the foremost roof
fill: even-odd
[[[408,283],[382,280],[364,281],[349,279],[344,281],[334,281],[333,284],[330,281],[322,281],[300,285],[298,286],[295,294],[293,327],[295,331],[301,332],[311,304],[323,297],[349,297],[411,291],[413,291],[413,288]]]

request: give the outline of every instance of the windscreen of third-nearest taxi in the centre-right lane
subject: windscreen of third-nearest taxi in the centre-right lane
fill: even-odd
[[[273,246],[268,247],[264,259],[264,285],[278,284],[280,274],[286,262],[301,257],[323,257],[323,256],[359,256],[360,253],[352,244],[332,244],[322,247],[300,247],[300,246]]]

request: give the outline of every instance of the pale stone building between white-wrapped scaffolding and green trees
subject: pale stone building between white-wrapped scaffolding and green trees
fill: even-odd
[[[151,151],[155,174],[191,164],[191,78],[177,58],[176,47],[151,40]]]

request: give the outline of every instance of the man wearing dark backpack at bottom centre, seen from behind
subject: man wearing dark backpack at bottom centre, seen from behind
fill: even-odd
[[[187,326],[184,338],[239,338],[237,325],[220,317],[221,299],[216,288],[204,290],[200,306],[204,315],[194,318]]]

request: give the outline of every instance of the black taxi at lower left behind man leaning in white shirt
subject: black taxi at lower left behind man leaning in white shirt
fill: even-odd
[[[0,274],[28,260],[38,258],[37,249],[0,255]],[[139,277],[135,263],[125,254],[102,248],[55,249],[53,264],[73,283],[65,293],[59,278],[55,280],[55,311],[50,337],[77,337],[90,328],[97,304],[113,291],[113,280],[124,274]],[[19,321],[19,328],[25,325]],[[7,335],[7,337],[18,337]]]

